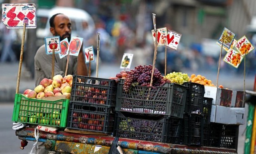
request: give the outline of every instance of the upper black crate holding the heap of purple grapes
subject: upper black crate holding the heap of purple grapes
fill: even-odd
[[[116,111],[162,114],[183,118],[186,87],[165,83],[161,87],[132,86],[123,90],[124,80],[117,86]]]

